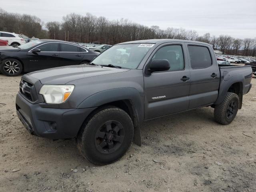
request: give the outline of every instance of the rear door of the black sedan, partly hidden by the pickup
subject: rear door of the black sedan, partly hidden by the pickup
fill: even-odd
[[[60,66],[78,65],[82,61],[82,54],[79,46],[60,43]]]

